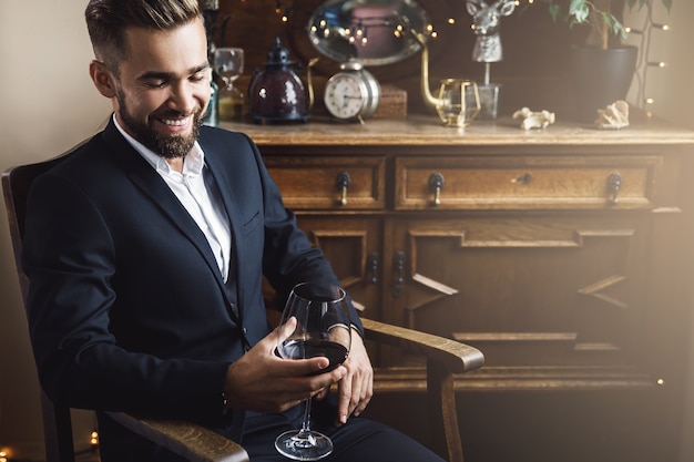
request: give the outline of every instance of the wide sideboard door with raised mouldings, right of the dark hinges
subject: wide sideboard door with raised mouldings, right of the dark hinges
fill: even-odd
[[[632,368],[644,328],[646,218],[392,220],[385,318],[473,345],[486,368]]]

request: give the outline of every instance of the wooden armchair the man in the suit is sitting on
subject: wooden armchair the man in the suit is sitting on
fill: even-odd
[[[2,189],[7,205],[10,234],[23,300],[27,300],[29,280],[21,269],[20,254],[24,232],[25,203],[32,181],[41,173],[68,157],[78,146],[52,160],[17,166],[2,174]],[[462,462],[462,448],[458,430],[453,374],[482,366],[482,353],[455,340],[425,332],[364,319],[369,340],[391,345],[402,351],[427,358],[427,394],[433,450],[450,462]],[[74,461],[70,409],[54,405],[41,393],[47,462]],[[200,462],[248,461],[248,455],[237,443],[211,430],[185,421],[137,419],[122,412],[111,415],[121,424],[161,444],[175,453]]]

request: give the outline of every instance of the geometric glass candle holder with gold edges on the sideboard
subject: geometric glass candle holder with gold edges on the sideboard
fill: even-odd
[[[446,126],[463,127],[480,112],[477,83],[466,79],[441,81],[436,111]]]

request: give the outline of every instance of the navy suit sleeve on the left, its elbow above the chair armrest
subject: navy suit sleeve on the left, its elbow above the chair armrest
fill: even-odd
[[[34,182],[22,264],[42,388],[74,408],[220,413],[227,362],[161,359],[119,346],[110,330],[118,258],[106,222],[76,186],[51,174]]]

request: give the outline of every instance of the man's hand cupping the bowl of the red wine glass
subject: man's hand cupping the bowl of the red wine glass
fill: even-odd
[[[229,408],[283,412],[309,397],[324,390],[327,391],[333,383],[340,381],[344,377],[355,376],[351,371],[354,367],[346,367],[349,359],[345,366],[330,372],[307,377],[309,373],[327,368],[328,359],[317,357],[285,360],[275,356],[274,351],[278,342],[286,339],[295,327],[296,319],[290,319],[282,329],[275,329],[238,361],[229,366],[224,383],[224,393]],[[353,335],[354,337],[359,336]],[[351,355],[350,351],[349,358]],[[359,393],[364,393],[361,387],[358,390]],[[344,408],[347,412],[346,404]],[[354,408],[349,409],[354,410]]]

